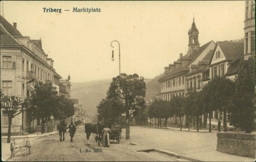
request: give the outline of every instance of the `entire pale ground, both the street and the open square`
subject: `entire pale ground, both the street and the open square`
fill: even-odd
[[[125,137],[125,129],[122,131],[121,136]],[[24,152],[19,152],[8,161],[254,161],[216,151],[216,132],[200,131],[132,126],[129,140],[121,139],[120,144],[111,141],[110,147],[103,147],[97,145],[94,134],[87,146],[81,126],[77,128],[73,143],[69,134],[65,134],[63,142],[59,141],[58,134],[30,138],[31,154],[25,157]],[[102,152],[94,152],[94,149],[102,149]],[[9,147],[5,151],[9,152]]]

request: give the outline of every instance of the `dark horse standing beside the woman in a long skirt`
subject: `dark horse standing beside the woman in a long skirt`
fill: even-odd
[[[86,132],[87,145],[88,146],[90,145],[89,138],[90,138],[91,133],[96,134],[95,140],[96,140],[96,143],[98,143],[98,146],[100,146],[100,143],[102,143],[102,130],[106,126],[105,123],[107,123],[111,127],[110,119],[108,119],[108,120],[102,119],[101,122],[97,122],[95,124],[93,124],[93,123],[84,124],[84,129],[85,129],[85,132]]]

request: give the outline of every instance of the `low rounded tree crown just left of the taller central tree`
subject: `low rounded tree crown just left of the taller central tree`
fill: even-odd
[[[99,105],[97,106],[97,118],[100,121],[104,119],[114,119],[115,121],[119,120],[118,118],[123,111],[123,103],[120,99],[102,99]]]

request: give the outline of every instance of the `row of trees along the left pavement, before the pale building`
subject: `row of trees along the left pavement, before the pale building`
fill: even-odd
[[[22,101],[15,96],[6,96],[1,91],[1,108],[8,115],[8,139],[10,143],[11,137],[11,119],[19,113],[27,111],[31,119],[37,119],[38,124],[42,122],[42,134],[44,124],[54,117],[57,120],[65,119],[66,117],[75,114],[74,103],[64,96],[58,96],[55,86],[51,82],[35,82],[35,90],[31,92],[31,97]]]

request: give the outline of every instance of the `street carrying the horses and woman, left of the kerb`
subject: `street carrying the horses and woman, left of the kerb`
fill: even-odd
[[[132,129],[133,130],[133,129]],[[134,132],[134,131],[133,131]],[[122,134],[124,136],[124,134]],[[90,137],[90,146],[86,145],[86,134],[83,127],[78,127],[74,142],[70,137],[60,142],[58,135],[49,137],[31,138],[31,154],[24,156],[19,152],[9,161],[176,161],[174,157],[162,156],[157,153],[136,152],[128,140],[121,140],[120,144],[114,142],[110,147],[97,146],[93,134]],[[80,152],[88,149],[91,152]],[[102,149],[96,153],[94,149]],[[143,149],[143,148],[142,148]]]

